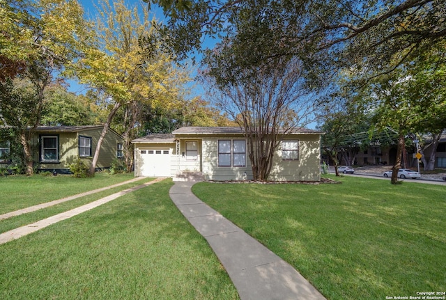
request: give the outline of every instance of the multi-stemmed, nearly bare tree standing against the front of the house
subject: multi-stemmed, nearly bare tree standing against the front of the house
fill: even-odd
[[[225,52],[228,51],[228,52]],[[268,180],[280,142],[309,122],[313,109],[303,87],[297,59],[278,59],[255,68],[238,68],[229,46],[208,61],[206,74],[215,91],[215,105],[244,129],[254,180]]]

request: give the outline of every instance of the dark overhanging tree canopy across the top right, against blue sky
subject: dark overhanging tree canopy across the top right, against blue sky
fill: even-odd
[[[164,33],[180,58],[200,49],[206,35],[237,32],[254,50],[246,53],[253,60],[306,53],[311,65],[326,67],[328,58],[351,64],[367,57],[387,72],[446,36],[442,0],[144,1],[164,9]]]

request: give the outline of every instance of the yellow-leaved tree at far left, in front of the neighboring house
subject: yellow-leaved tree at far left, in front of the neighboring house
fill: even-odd
[[[0,33],[0,67],[6,70],[2,76],[3,109],[0,113],[3,122],[16,123],[20,141],[24,147],[26,174],[33,174],[33,156],[31,137],[40,125],[45,89],[54,80],[56,72],[69,68],[77,58],[79,49],[86,37],[88,24],[82,18],[82,8],[76,1],[40,0],[40,1],[1,1],[0,17],[6,25]],[[20,77],[24,81],[13,80]],[[24,82],[33,85],[33,93],[24,97],[17,95]],[[19,84],[17,88],[11,84]],[[13,98],[8,99],[6,96]],[[30,96],[28,96],[30,95]],[[31,96],[32,95],[32,96]],[[13,107],[8,102],[15,102],[20,107]],[[24,112],[28,119],[17,120],[7,111]],[[33,114],[29,115],[29,111]]]

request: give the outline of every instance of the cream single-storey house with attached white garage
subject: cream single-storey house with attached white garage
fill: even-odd
[[[300,129],[284,137],[269,180],[319,181],[321,134]],[[240,127],[181,127],[172,134],[150,134],[134,143],[134,175],[205,180],[252,180],[246,139]]]

